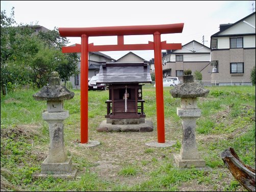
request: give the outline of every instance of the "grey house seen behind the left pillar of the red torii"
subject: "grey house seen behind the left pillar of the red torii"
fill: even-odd
[[[71,45],[73,46],[73,45]],[[78,53],[78,57],[81,59],[81,53]],[[107,54],[101,52],[89,52],[88,56],[88,80],[99,73],[99,68],[102,65],[103,61],[113,62],[115,59],[107,56]],[[78,62],[78,70],[81,71],[81,60]],[[72,86],[76,89],[80,89],[81,86],[81,73],[70,77],[70,82]]]

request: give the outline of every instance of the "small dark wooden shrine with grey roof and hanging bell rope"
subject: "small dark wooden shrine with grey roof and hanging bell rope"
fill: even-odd
[[[142,98],[143,83],[151,83],[150,68],[146,61],[130,63],[103,63],[97,84],[107,84],[107,123],[145,123]]]

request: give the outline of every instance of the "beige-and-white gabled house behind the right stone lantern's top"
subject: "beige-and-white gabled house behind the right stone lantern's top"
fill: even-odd
[[[184,70],[191,69],[192,74],[199,71],[203,80],[211,79],[211,49],[193,40],[182,49],[162,52],[163,78],[179,77],[183,81]]]

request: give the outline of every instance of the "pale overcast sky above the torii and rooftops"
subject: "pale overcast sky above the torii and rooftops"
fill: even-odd
[[[252,6],[253,4],[253,6]],[[192,40],[210,47],[219,25],[234,23],[255,11],[255,1],[1,1],[10,16],[14,7],[17,23],[39,24],[49,30],[70,27],[125,26],[184,23],[180,34],[161,35],[161,41],[187,44]],[[81,38],[68,38],[81,43]],[[124,36],[125,44],[148,43],[152,35]],[[94,45],[116,44],[117,37],[89,37]],[[129,51],[105,51],[113,59]],[[153,50],[133,51],[149,61]]]

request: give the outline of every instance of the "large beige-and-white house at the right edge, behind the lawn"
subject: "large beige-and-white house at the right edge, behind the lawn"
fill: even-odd
[[[251,85],[255,66],[255,12],[243,19],[220,24],[211,36],[211,80],[216,85]]]

